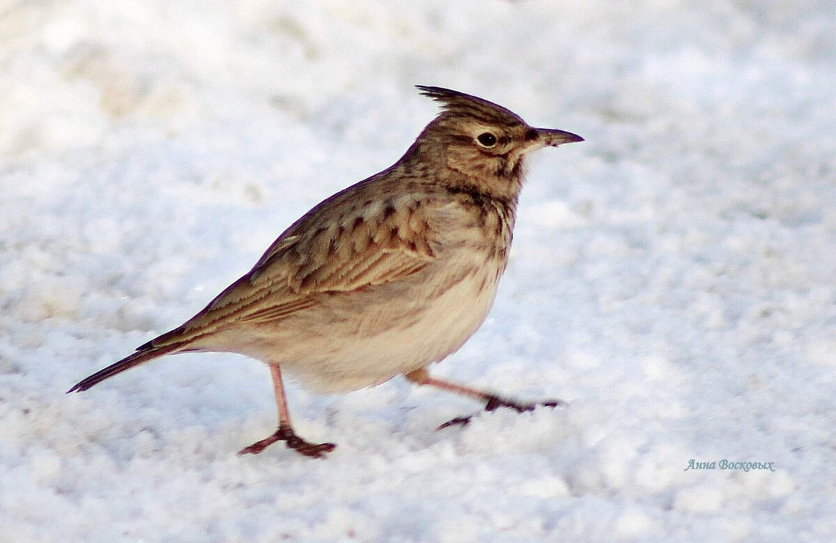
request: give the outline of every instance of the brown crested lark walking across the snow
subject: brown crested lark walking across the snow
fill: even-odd
[[[429,368],[487,318],[508,263],[527,157],[584,139],[529,126],[474,95],[416,88],[440,112],[400,160],[314,206],[191,319],[68,393],[161,356],[242,354],[269,367],[278,428],[239,454],[284,442],[313,458],[336,445],[310,443],[295,432],[285,374],[312,392],[350,392],[403,376],[485,402],[487,411],[563,405],[517,402],[432,377]]]

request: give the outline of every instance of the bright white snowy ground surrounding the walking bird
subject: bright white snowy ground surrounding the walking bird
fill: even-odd
[[[826,1],[0,2],[0,540],[828,540],[836,11]],[[288,223],[497,101],[541,151],[487,323],[436,373],[291,386],[170,357]],[[687,470],[689,461],[716,469]],[[721,460],[772,470],[720,469]]]

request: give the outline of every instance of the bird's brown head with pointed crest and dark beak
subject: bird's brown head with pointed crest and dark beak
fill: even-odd
[[[528,126],[519,115],[477,96],[417,86],[422,95],[440,102],[442,111],[416,143],[426,143],[426,151],[443,157],[447,167],[475,184],[518,192],[529,152],[584,141],[571,132]]]

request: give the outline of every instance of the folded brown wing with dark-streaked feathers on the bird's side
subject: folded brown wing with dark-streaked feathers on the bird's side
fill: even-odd
[[[347,292],[420,272],[436,260],[439,224],[426,202],[380,213],[314,213],[295,223],[241,279],[170,334],[195,339],[237,323],[276,322]],[[436,213],[437,215],[437,213]],[[166,335],[167,336],[167,335]],[[164,336],[158,338],[163,339]],[[157,341],[155,341],[155,344]]]

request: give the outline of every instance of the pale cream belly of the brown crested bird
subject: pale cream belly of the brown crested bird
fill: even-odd
[[[497,269],[471,269],[446,288],[415,278],[334,295],[251,341],[237,336],[235,351],[278,363],[288,377],[317,392],[380,384],[441,361],[482,325],[496,296]]]

